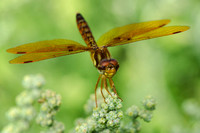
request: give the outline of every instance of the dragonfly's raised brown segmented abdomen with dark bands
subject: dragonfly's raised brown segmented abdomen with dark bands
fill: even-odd
[[[94,37],[92,36],[92,32],[90,31],[87,22],[80,13],[76,14],[76,22],[79,32],[81,33],[81,36],[83,37],[83,40],[88,45],[88,47],[97,48],[97,44],[94,40]]]

